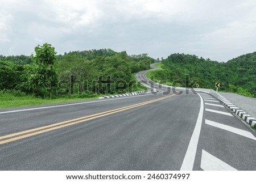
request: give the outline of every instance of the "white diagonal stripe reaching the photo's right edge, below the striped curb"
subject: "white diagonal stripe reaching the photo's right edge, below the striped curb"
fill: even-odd
[[[214,126],[216,128],[224,129],[224,130],[227,130],[227,131],[232,132],[232,133],[239,134],[243,137],[247,137],[247,138],[251,138],[251,139],[256,140],[256,138],[253,136],[253,134],[251,134],[250,132],[247,132],[245,130],[242,130],[242,129],[234,128],[232,126],[227,126],[227,125],[220,124],[218,122],[214,122],[214,121],[210,121],[210,120],[205,120],[205,124]]]

